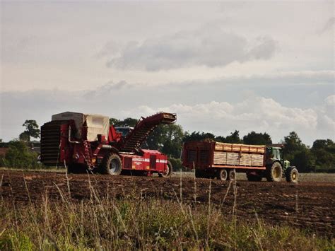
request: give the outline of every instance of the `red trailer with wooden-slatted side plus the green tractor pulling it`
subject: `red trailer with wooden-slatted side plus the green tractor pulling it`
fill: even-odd
[[[184,167],[195,169],[196,177],[235,180],[236,172],[249,181],[298,182],[298,170],[283,158],[283,145],[256,146],[216,141],[192,141],[183,146]]]

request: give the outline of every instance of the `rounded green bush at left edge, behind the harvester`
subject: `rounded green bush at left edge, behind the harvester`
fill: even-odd
[[[24,169],[41,168],[42,165],[37,163],[38,154],[30,151],[24,141],[10,141],[8,148],[5,158],[0,159],[0,166]]]

